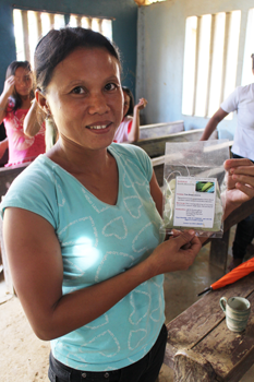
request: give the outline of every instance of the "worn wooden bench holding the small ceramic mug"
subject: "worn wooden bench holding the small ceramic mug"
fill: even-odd
[[[242,333],[230,332],[220,297],[242,296],[252,311]],[[208,293],[167,324],[165,363],[174,382],[237,382],[254,363],[254,273]]]

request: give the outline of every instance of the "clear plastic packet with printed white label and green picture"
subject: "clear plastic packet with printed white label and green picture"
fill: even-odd
[[[166,143],[161,230],[222,237],[228,158],[228,140]]]

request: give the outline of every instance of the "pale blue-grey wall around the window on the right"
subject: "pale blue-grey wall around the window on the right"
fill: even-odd
[[[182,119],[186,130],[205,128],[207,118],[181,112],[185,20],[192,15],[241,10],[237,72],[237,85],[240,85],[250,8],[254,8],[252,0],[168,0],[138,9],[136,95],[148,100],[145,123]],[[232,139],[235,122],[235,116],[233,120],[223,120],[219,135]]]

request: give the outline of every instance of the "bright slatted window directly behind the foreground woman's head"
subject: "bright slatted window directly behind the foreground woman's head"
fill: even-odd
[[[14,35],[16,44],[16,60],[27,60],[33,65],[34,51],[41,36],[51,28],[59,29],[65,26],[63,14],[36,11],[13,10]],[[112,40],[112,21],[107,19],[86,17],[76,14],[70,15],[70,26],[83,26],[100,32]]]

